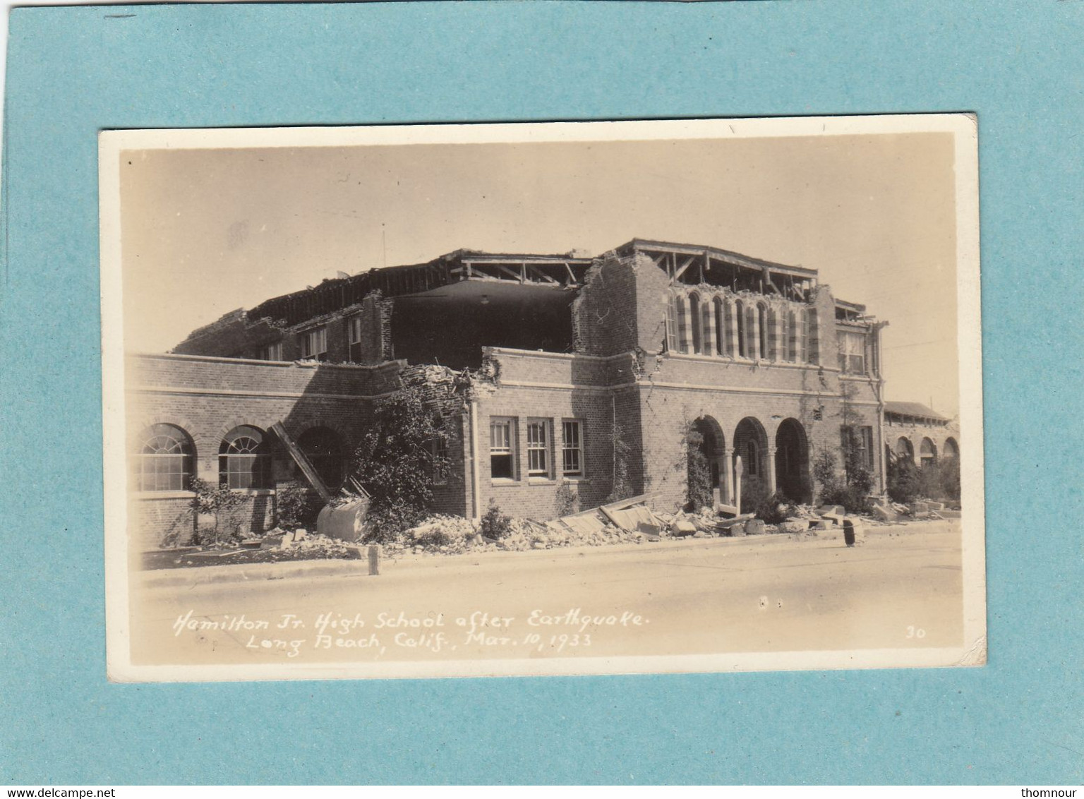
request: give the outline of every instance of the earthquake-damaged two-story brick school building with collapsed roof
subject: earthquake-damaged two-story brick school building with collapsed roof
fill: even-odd
[[[374,403],[404,382],[454,416],[433,442],[452,464],[435,475],[443,513],[493,501],[551,518],[563,491],[591,507],[615,480],[672,510],[691,429],[723,502],[811,501],[813,458],[841,465],[841,431],[883,492],[896,441],[882,325],[813,269],[644,240],[595,258],[456,250],[325,280],[170,353],[128,356],[134,528],[155,546],[192,525],[191,476],[246,492],[253,527],[270,525],[276,487],[301,477],[291,448],[337,487]]]

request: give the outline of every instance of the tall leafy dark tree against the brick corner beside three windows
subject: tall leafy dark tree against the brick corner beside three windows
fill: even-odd
[[[377,401],[352,466],[354,479],[372,497],[373,538],[393,540],[425,517],[433,502],[434,476],[449,466],[433,446],[446,435],[443,421],[415,386]]]

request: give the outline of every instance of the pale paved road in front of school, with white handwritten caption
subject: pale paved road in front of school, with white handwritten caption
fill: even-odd
[[[956,647],[962,594],[952,521],[878,528],[854,549],[764,537],[427,557],[386,562],[379,577],[143,589],[132,661]]]

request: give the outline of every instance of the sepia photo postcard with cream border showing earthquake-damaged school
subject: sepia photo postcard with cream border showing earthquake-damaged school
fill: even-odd
[[[984,663],[977,143],[103,132],[109,678]]]

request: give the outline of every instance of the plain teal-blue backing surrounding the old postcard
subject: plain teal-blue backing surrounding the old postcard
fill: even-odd
[[[15,10],[0,777],[1080,783],[1082,23],[1077,0]],[[985,668],[105,681],[100,129],[940,111],[980,125]]]

